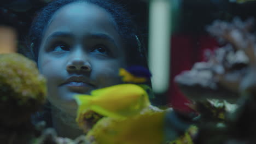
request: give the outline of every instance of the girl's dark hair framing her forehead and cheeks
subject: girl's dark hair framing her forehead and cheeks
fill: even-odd
[[[63,6],[74,2],[87,2],[98,5],[112,15],[119,34],[125,45],[126,62],[128,65],[143,65],[148,68],[146,50],[140,38],[138,29],[132,21],[131,16],[124,10],[123,6],[111,0],[56,0],[44,7],[34,18],[28,33],[27,44],[30,52],[27,56],[37,62],[39,46],[43,33],[54,13]]]

